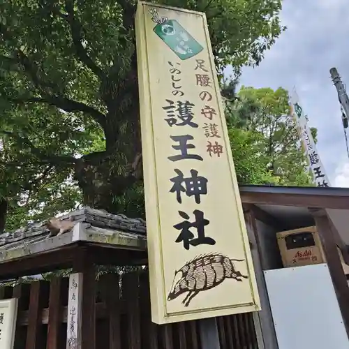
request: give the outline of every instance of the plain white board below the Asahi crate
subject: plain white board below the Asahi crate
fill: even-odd
[[[264,273],[279,349],[349,348],[326,264]]]

